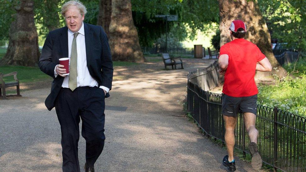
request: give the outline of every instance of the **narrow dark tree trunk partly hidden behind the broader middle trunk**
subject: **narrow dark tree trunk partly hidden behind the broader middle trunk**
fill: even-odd
[[[106,35],[109,37],[109,24],[112,15],[112,0],[100,0],[99,15],[97,24],[102,26]]]

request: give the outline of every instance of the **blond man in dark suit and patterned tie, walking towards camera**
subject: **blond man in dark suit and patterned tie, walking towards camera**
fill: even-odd
[[[61,10],[67,26],[48,34],[39,60],[40,70],[54,79],[45,105],[49,111],[55,107],[61,125],[63,171],[80,171],[81,118],[86,140],[84,168],[92,172],[104,146],[104,100],[112,87],[113,63],[102,27],[83,23],[85,6],[69,1]],[[69,75],[59,65],[59,59],[65,57],[70,58]]]

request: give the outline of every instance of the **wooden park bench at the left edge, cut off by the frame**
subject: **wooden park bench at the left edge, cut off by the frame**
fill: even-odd
[[[12,76],[12,75],[14,75],[15,82],[5,83],[3,81],[3,77]],[[8,74],[5,74],[5,75],[3,75],[3,73],[0,73],[0,97],[6,98],[5,88],[6,87],[11,87],[11,86],[16,86],[17,87],[17,95],[13,95],[13,96],[21,96],[20,95],[20,89],[19,89],[19,80],[17,79],[17,72],[11,72],[11,73],[8,73]]]

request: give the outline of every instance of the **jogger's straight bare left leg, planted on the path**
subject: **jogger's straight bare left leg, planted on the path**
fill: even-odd
[[[235,146],[235,127],[237,124],[237,117],[228,117],[223,115],[225,122],[225,144],[229,155],[229,162],[234,159]]]

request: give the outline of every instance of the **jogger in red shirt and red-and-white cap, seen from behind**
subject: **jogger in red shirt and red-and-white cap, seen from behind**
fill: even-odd
[[[238,112],[243,113],[245,128],[250,138],[249,149],[252,155],[251,165],[259,170],[262,165],[257,148],[258,131],[255,128],[257,113],[257,93],[254,76],[256,70],[271,71],[269,60],[259,48],[244,38],[245,23],[234,20],[229,27],[231,42],[220,48],[219,73],[224,75],[222,114],[225,121],[225,143],[228,151],[223,165],[229,171],[235,171],[234,145],[235,127]]]

